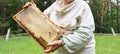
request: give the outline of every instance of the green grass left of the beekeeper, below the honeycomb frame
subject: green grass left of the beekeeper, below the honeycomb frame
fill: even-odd
[[[12,36],[9,41],[0,38],[0,54],[44,54],[43,49],[30,36]]]

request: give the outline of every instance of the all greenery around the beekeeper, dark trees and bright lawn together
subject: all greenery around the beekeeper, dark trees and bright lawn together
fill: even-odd
[[[39,44],[28,35],[19,35],[25,31],[12,19],[30,0],[0,0],[0,54],[43,54]],[[88,0],[86,0],[88,1]],[[95,33],[111,33],[111,28],[120,33],[120,0],[90,0],[96,30]],[[54,0],[34,0],[44,11]],[[5,41],[7,28],[11,29],[9,41]],[[17,34],[17,35],[16,35]],[[96,54],[120,54],[120,34],[95,34]],[[52,53],[55,54],[55,53]]]

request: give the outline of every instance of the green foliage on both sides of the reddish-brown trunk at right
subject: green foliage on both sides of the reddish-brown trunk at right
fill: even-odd
[[[90,2],[90,7],[93,12],[96,30],[95,32],[100,32],[100,17],[101,17],[101,0],[92,0]],[[108,5],[109,4],[109,5]],[[102,33],[111,33],[111,28],[115,29],[117,32],[117,12],[116,6],[112,4],[110,1],[105,2],[104,6],[104,16],[103,16],[103,25],[102,25]]]

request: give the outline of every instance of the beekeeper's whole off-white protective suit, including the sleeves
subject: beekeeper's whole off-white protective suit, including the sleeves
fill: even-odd
[[[85,1],[74,0],[62,7],[60,0],[56,0],[44,13],[67,31],[57,54],[95,54],[94,19]]]

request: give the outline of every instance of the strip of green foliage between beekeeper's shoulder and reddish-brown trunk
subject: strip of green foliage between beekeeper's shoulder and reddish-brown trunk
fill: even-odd
[[[100,31],[100,10],[101,10],[101,1],[96,0],[90,2],[90,7],[94,16],[95,25],[96,25],[96,32]]]

